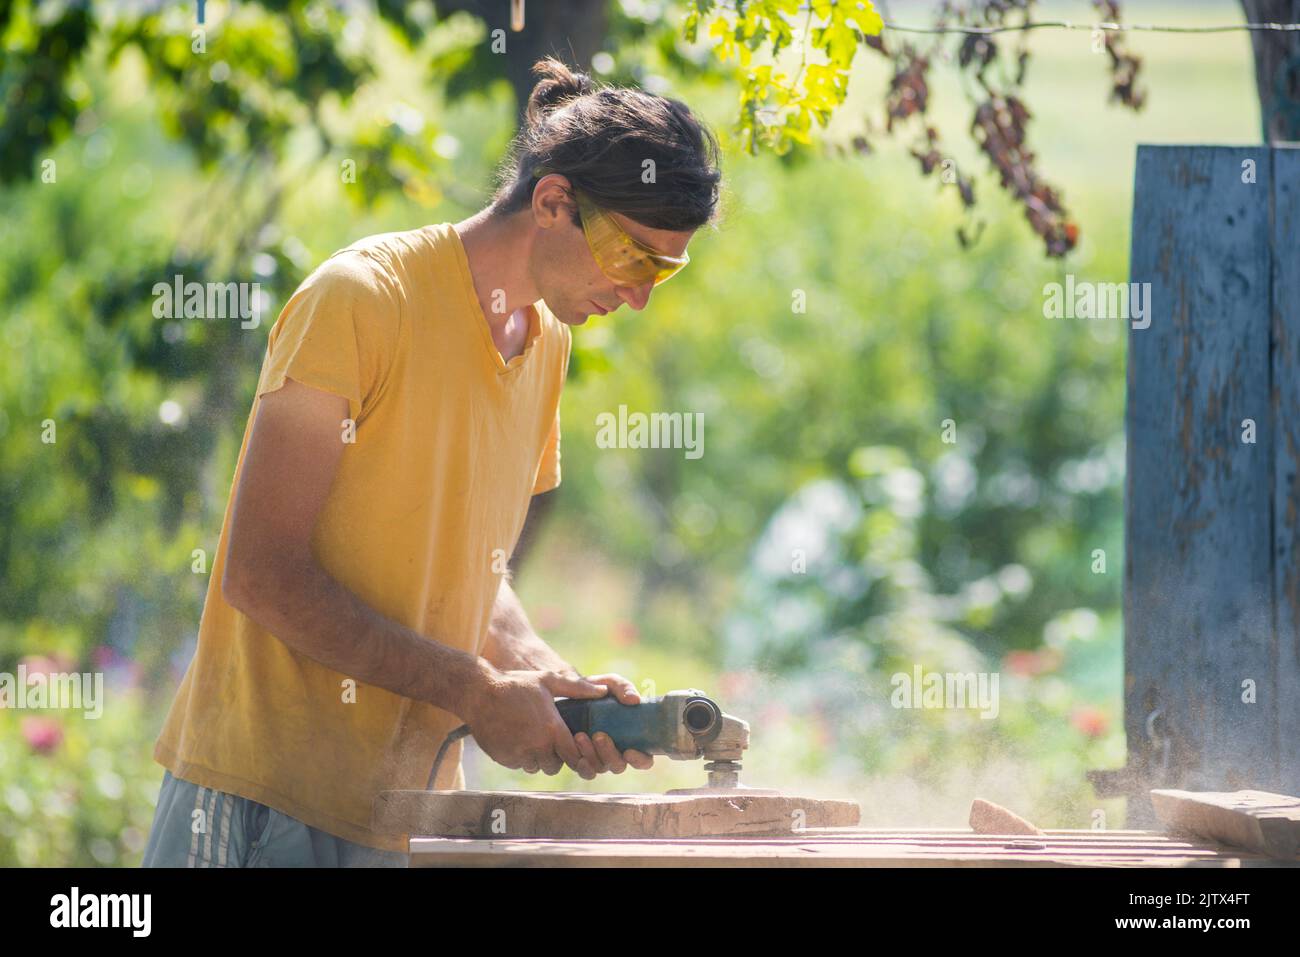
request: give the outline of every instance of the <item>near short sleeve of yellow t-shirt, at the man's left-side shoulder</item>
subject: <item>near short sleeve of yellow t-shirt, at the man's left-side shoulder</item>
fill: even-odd
[[[303,280],[266,343],[257,395],[286,378],[347,399],[354,421],[369,411],[396,355],[400,308],[380,267],[335,254]]]

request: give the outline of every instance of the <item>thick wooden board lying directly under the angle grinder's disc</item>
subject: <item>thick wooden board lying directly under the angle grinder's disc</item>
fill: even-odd
[[[460,837],[698,837],[852,827],[853,801],[784,794],[597,794],[521,791],[385,791],[382,833]]]

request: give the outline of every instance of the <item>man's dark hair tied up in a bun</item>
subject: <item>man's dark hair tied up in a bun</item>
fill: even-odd
[[[597,86],[554,57],[538,78],[524,125],[502,164],[493,209],[512,213],[533,200],[546,173],[560,173],[604,209],[651,229],[690,231],[718,209],[718,138],[684,103],[627,87]],[[654,181],[644,182],[646,160]]]

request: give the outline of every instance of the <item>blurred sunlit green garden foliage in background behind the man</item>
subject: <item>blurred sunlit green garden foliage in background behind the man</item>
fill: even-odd
[[[482,25],[380,7],[339,22],[332,4],[239,3],[226,18],[209,4],[202,55],[181,8],[105,21],[53,86],[42,44],[72,49],[81,7],[51,4],[36,26],[32,4],[5,8],[0,671],[58,655],[118,672],[98,722],[0,711],[0,865],[138,861],[153,739],[276,311],[334,250],[489,195],[516,104],[500,83],[448,85],[485,69]],[[1112,241],[1048,264],[997,196],[979,244],[958,250],[961,211],[906,153],[746,156],[736,90],[671,38],[680,21],[618,7],[630,39],[611,40],[602,75],[720,129],[725,209],[645,312],[576,330],[564,484],[520,573],[534,624],[584,671],[718,694],[754,723],[749,783],[933,826],[963,823],[984,788],[1039,823],[1088,826],[1083,771],[1123,761],[1124,332],[1045,320],[1041,287],[1066,270],[1124,278],[1139,135],[1253,135],[1244,42],[1149,57],[1173,105],[1145,126],[1106,113],[1100,86],[1078,92],[1086,46],[1053,49],[1044,166],[1088,211],[1084,235]],[[879,65],[864,69],[854,88],[878,90]],[[152,286],[176,273],[259,282],[272,308],[256,329],[157,320]],[[703,456],[598,449],[595,416],[619,404],[703,412]],[[889,707],[890,675],[916,664],[998,672],[998,718]],[[667,765],[594,787],[701,776]],[[481,761],[471,780],[540,785]]]

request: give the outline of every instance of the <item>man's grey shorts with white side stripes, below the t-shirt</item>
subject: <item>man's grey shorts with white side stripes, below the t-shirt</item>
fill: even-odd
[[[411,858],[335,837],[264,804],[162,774],[143,867],[407,867]]]

